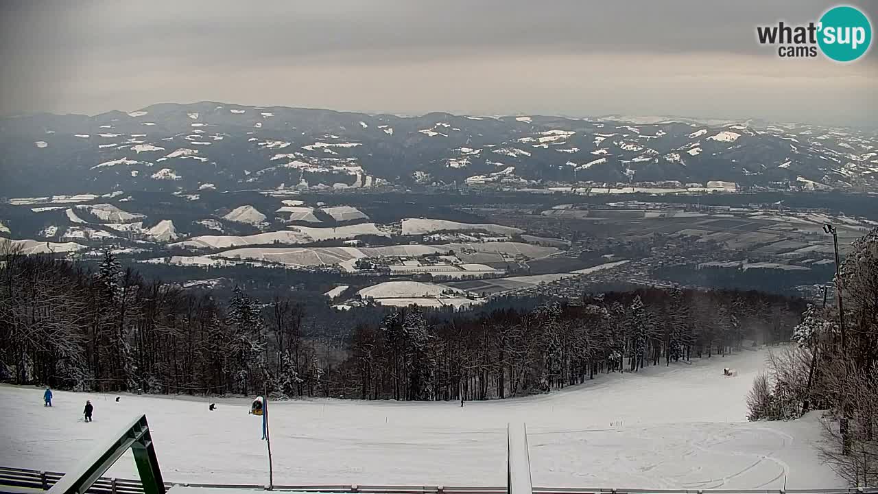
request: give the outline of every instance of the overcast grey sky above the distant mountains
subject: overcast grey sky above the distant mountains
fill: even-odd
[[[850,2],[878,19],[878,2]],[[777,56],[756,25],[833,3],[4,1],[0,113],[215,100],[336,110],[621,113],[878,125],[878,52]],[[874,42],[873,42],[874,44]]]

